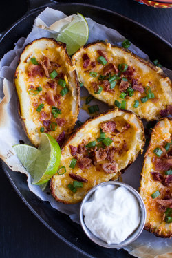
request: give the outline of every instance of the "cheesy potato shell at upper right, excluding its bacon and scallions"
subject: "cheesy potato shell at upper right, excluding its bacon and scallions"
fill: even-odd
[[[107,89],[107,85],[101,84],[103,91],[100,94],[95,94],[95,89],[92,83],[97,82],[100,85],[99,75],[103,75],[103,69],[106,65],[100,65],[97,62],[98,50],[103,50],[107,52],[108,65],[109,63],[114,63],[118,69],[118,65],[125,63],[128,67],[133,69],[132,79],[138,79],[138,85],[143,86],[145,89],[148,85],[152,92],[155,94],[155,98],[149,99],[147,102],[142,103],[141,98],[147,96],[145,92],[138,92],[134,90],[133,96],[125,98],[127,107],[126,109],[135,112],[140,118],[146,120],[159,120],[161,115],[160,112],[168,105],[172,104],[172,85],[171,80],[162,72],[160,67],[155,67],[155,65],[145,61],[136,54],[133,54],[129,50],[124,49],[116,45],[111,45],[109,43],[94,42],[89,43],[78,50],[74,56],[72,56],[72,63],[76,65],[79,80],[84,84],[90,94],[92,94],[98,100],[107,103],[109,106],[114,107],[114,100],[121,102],[119,85],[120,80],[116,80],[116,86],[112,91]],[[91,61],[96,62],[96,66],[92,67],[89,65],[87,68],[83,68],[83,55],[87,54]],[[95,71],[98,73],[96,78],[89,76],[90,72]],[[119,70],[118,70],[119,71]],[[117,73],[115,73],[117,74]],[[124,73],[125,74],[125,73]],[[122,74],[122,76],[124,75]],[[112,73],[114,75],[114,73]],[[129,78],[129,76],[125,77]],[[129,78],[129,83],[132,85],[132,80]],[[133,85],[132,85],[133,87]],[[124,91],[127,93],[127,89]],[[128,93],[127,93],[128,94]],[[137,108],[133,107],[134,100],[139,101],[139,106]]]

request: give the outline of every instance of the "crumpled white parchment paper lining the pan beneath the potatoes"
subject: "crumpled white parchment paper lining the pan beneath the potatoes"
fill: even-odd
[[[60,21],[63,19],[63,22]],[[64,20],[65,19],[65,20]],[[53,208],[65,213],[71,217],[74,222],[79,222],[79,206],[80,204],[61,204],[56,202],[51,195],[47,194],[48,189],[45,192],[41,191],[39,186],[31,184],[31,177],[27,171],[23,168],[19,162],[12,145],[19,144],[19,140],[23,140],[25,144],[30,144],[28,138],[25,136],[25,132],[21,127],[19,115],[17,111],[17,98],[14,92],[13,79],[14,72],[19,61],[19,56],[28,43],[34,39],[41,37],[56,37],[56,34],[60,32],[72,17],[67,17],[63,12],[53,10],[52,8],[46,8],[39,17],[36,18],[32,32],[28,37],[21,38],[15,44],[14,50],[11,50],[3,56],[0,62],[0,158],[12,169],[12,171],[19,171],[25,173],[28,176],[28,186],[30,191],[35,193],[41,200],[49,201]],[[116,30],[105,27],[87,18],[89,25],[89,42],[97,40],[107,39],[109,43],[114,45],[121,45],[125,37],[122,36]],[[132,32],[131,32],[132,33]],[[129,50],[138,54],[138,56],[149,60],[147,54],[144,54],[135,45],[131,44]],[[165,69],[166,74],[172,78],[172,72]],[[81,96],[87,96],[88,92],[85,88],[81,88]],[[82,101],[81,101],[82,103]],[[98,100],[92,100],[92,105],[98,103],[100,112],[109,109],[107,105],[100,103]],[[89,118],[89,114],[86,111],[80,109],[78,120],[84,122]],[[139,187],[140,172],[142,169],[143,155],[139,156],[137,160],[132,164],[129,169],[122,175],[122,180],[127,184],[130,184],[135,189]],[[151,233],[143,231],[140,237],[136,239],[132,244],[125,247],[131,255],[144,258],[169,258],[172,257],[172,239],[161,239],[155,237]]]

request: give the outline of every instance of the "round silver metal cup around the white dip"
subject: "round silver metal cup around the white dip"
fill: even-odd
[[[133,193],[133,195],[138,200],[138,204],[140,206],[141,218],[140,218],[140,224],[139,224],[138,228],[136,228],[136,230],[134,230],[133,233],[131,233],[131,235],[129,235],[129,237],[127,237],[127,239],[125,239],[125,241],[122,241],[120,244],[107,244],[105,241],[103,241],[100,238],[93,235],[93,233],[87,228],[87,226],[85,225],[85,222],[84,222],[83,206],[84,206],[85,202],[87,202],[92,197],[92,195],[96,191],[97,187],[103,187],[103,186],[107,186],[107,185],[124,186],[127,190],[129,190],[129,191],[131,191],[131,193]],[[80,224],[83,227],[85,234],[94,243],[98,244],[99,246],[106,247],[106,248],[121,248],[121,247],[127,246],[128,244],[133,242],[142,233],[142,230],[143,230],[144,224],[145,224],[145,220],[146,220],[146,208],[144,206],[144,202],[143,202],[140,194],[135,189],[133,189],[133,187],[129,186],[128,184],[118,182],[118,181],[109,181],[109,182],[103,182],[101,184],[97,184],[87,193],[87,195],[85,195],[83,202],[80,204]]]

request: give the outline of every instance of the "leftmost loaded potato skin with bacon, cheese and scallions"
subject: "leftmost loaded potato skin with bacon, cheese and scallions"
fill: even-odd
[[[80,87],[65,43],[36,39],[23,50],[14,85],[19,114],[34,146],[41,132],[50,133],[59,144],[71,133],[78,117]]]

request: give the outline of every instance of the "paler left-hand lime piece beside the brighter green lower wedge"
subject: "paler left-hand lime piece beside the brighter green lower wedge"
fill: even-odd
[[[36,159],[36,155],[38,154],[38,149],[26,145],[26,144],[17,144],[12,146],[14,151],[17,153],[17,157],[19,158],[21,164],[27,169],[32,178],[34,177],[34,163]]]

